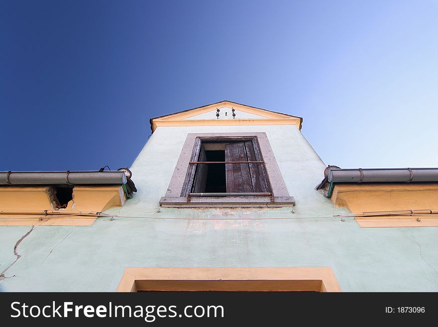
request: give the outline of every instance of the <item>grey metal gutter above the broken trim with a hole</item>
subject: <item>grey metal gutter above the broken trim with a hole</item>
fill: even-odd
[[[126,184],[123,171],[9,171],[0,172],[0,185]]]

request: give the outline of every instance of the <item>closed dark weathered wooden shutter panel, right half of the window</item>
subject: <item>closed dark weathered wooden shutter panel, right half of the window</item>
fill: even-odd
[[[225,145],[225,161],[262,161],[252,141]],[[260,164],[225,164],[226,192],[271,192],[264,167]],[[263,180],[265,179],[266,180]]]

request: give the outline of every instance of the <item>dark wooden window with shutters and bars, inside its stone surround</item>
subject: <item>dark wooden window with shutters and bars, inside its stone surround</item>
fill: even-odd
[[[256,137],[199,137],[192,159],[183,197],[271,196]]]

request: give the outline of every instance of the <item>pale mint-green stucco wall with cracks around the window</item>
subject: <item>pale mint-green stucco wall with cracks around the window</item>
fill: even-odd
[[[188,132],[246,131],[267,133],[296,207],[159,207]],[[149,218],[36,227],[19,244],[21,257],[0,290],[114,291],[125,267],[329,266],[343,291],[438,291],[438,227],[361,228],[352,218],[303,218],[347,213],[314,190],[324,168],[296,126],[159,127],[131,167],[138,193],[107,211]],[[0,271],[29,229],[0,227]]]

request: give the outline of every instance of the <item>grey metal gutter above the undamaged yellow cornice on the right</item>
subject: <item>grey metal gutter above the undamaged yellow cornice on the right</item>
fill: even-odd
[[[329,183],[438,182],[438,168],[330,169]]]

